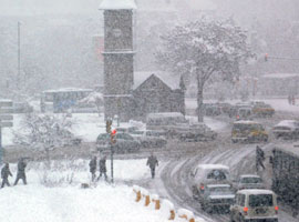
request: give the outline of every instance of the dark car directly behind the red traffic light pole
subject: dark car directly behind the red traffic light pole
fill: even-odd
[[[115,138],[116,143],[113,145],[113,149],[116,153],[137,152],[141,149],[141,142],[128,133],[116,133]],[[110,134],[101,133],[96,138],[95,143],[99,151],[111,150]]]

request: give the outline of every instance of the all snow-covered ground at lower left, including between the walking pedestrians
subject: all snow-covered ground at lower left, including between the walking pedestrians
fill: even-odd
[[[87,161],[53,161],[51,170],[48,171],[43,163],[29,162],[28,185],[19,181],[17,186],[0,189],[0,221],[163,221],[161,214],[135,203],[132,188],[121,183],[121,180],[148,178],[145,160],[117,160],[114,167],[115,181],[117,181],[114,186],[100,181],[91,189],[80,189],[81,183],[90,183]],[[13,178],[9,180],[12,183],[17,174],[17,165],[11,164],[10,168]],[[43,176],[45,172],[47,180]],[[71,172],[74,172],[73,176]]]

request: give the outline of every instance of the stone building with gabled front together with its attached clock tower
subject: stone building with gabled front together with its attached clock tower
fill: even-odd
[[[134,0],[103,0],[104,11],[104,114],[121,121],[144,118],[150,112],[184,113],[179,80],[154,73],[135,73],[133,44]],[[135,81],[142,79],[143,81]],[[176,81],[176,85],[167,84]],[[182,83],[182,82],[181,82]]]

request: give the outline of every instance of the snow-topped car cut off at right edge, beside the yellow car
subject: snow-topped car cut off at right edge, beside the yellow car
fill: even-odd
[[[272,128],[276,139],[298,139],[299,138],[299,121],[282,120]]]

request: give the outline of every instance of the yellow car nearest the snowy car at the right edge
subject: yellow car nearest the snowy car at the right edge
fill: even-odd
[[[267,142],[268,133],[262,124],[255,121],[236,121],[231,129],[231,141],[236,142]]]

